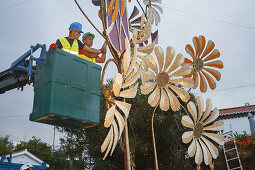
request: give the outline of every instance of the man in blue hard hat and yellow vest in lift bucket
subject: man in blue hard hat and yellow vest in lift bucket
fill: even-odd
[[[59,38],[56,41],[56,47],[77,56],[79,50],[86,50],[94,55],[100,54],[102,50],[92,49],[78,40],[81,33],[83,33],[82,25],[79,22],[73,22],[69,27],[68,37]]]

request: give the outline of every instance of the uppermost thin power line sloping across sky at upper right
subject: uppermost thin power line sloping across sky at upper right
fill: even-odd
[[[203,15],[200,15],[200,14],[196,14],[196,13],[189,12],[189,11],[184,11],[184,10],[181,10],[181,9],[170,8],[170,7],[166,7],[166,6],[163,6],[163,8],[166,8],[166,9],[169,9],[169,10],[173,10],[173,11],[177,11],[177,12],[181,12],[181,13],[185,13],[185,14],[194,15],[194,16],[201,17],[201,18],[209,18],[208,16],[203,16]],[[212,17],[210,17],[210,18],[211,18],[211,20],[214,20],[214,21],[217,21],[217,22],[220,22],[220,23],[224,23],[224,24],[228,24],[228,25],[233,25],[233,26],[237,26],[237,27],[242,27],[242,28],[254,30],[254,28],[250,27],[250,26],[236,24],[236,23],[232,23],[232,22],[227,22],[227,21],[215,19],[215,18],[212,18]]]

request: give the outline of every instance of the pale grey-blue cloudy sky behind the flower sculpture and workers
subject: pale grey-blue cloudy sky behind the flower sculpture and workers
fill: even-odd
[[[90,0],[79,2],[102,30],[98,7]],[[134,0],[133,4],[136,4]],[[133,4],[128,4],[129,9]],[[193,92],[204,99],[211,98],[218,108],[255,104],[255,1],[162,0],[162,6],[164,14],[158,27],[160,46],[165,49],[170,45],[188,56],[185,45],[192,43],[193,36],[204,35],[221,52],[224,69],[216,90],[205,94]],[[72,0],[0,0],[0,21],[0,72],[8,69],[30,45],[40,43],[48,47],[56,39],[67,36],[68,27],[74,21],[81,22],[85,32],[96,34],[95,48],[103,44],[103,39]],[[109,70],[107,77],[113,77],[116,70]],[[0,136],[10,135],[12,141],[27,141],[37,136],[52,144],[53,127],[29,121],[32,106],[31,86],[26,86],[23,92],[15,89],[0,95]]]

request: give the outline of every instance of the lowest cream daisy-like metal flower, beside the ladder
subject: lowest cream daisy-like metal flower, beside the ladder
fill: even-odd
[[[210,99],[206,100],[205,111],[202,98],[198,97],[196,102],[197,107],[193,102],[189,102],[187,105],[191,117],[188,115],[182,117],[182,125],[192,129],[183,133],[182,141],[183,143],[189,143],[192,140],[188,148],[189,156],[193,157],[195,155],[197,164],[201,164],[204,159],[205,164],[208,165],[212,163],[212,158],[216,159],[219,156],[218,149],[210,140],[220,145],[224,144],[224,137],[214,133],[223,130],[224,122],[220,120],[214,123],[219,117],[219,110],[215,107],[211,112],[212,102]]]

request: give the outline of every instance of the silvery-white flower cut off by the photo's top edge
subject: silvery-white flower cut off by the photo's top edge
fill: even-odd
[[[160,5],[161,4],[161,0],[143,0],[144,5],[146,5],[146,7],[151,7],[152,9],[152,21],[151,24],[154,24],[158,26],[158,23],[160,22],[160,13],[163,14],[163,9]],[[155,4],[158,3],[158,4]],[[160,13],[159,13],[159,12]]]

